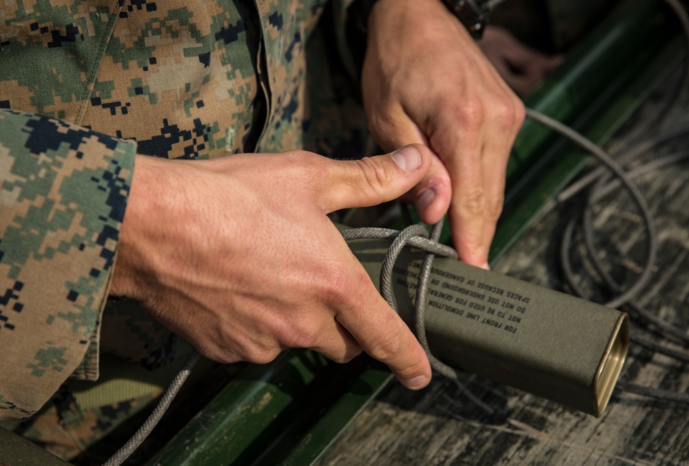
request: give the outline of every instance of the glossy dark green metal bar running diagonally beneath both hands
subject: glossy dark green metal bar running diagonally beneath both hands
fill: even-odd
[[[595,142],[608,140],[681,49],[679,27],[660,3],[626,1],[569,54],[527,105]],[[551,131],[524,124],[508,167],[506,210],[493,258],[585,160]],[[286,352],[269,365],[247,367],[147,464],[313,463],[390,380],[389,371],[367,357],[340,366],[307,350]]]

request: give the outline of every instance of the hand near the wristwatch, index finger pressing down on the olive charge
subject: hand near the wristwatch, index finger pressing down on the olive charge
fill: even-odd
[[[439,0],[380,0],[368,30],[362,94],[373,136],[386,151],[433,150],[406,198],[427,224],[449,209],[460,260],[487,268],[524,105]]]

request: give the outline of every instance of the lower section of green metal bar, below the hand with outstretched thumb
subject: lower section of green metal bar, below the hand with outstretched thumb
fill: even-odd
[[[331,431],[304,432],[319,421],[349,423],[390,377],[367,358],[338,365],[308,350],[283,352],[271,364],[247,366],[147,464],[276,464],[300,444],[296,456],[320,452]]]

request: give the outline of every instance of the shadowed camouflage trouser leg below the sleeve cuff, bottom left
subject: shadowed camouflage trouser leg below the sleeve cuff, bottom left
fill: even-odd
[[[97,382],[69,379],[30,419],[0,426],[65,460],[106,460],[141,425],[192,347],[134,301],[118,299],[103,313],[100,346]],[[185,385],[209,366],[201,358]]]

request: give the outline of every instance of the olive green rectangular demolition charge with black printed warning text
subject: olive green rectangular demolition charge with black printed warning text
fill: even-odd
[[[390,244],[349,242],[377,286]],[[423,257],[407,247],[393,267],[393,301],[412,327]],[[433,262],[425,322],[431,352],[449,366],[597,417],[629,339],[625,313],[441,257]]]

